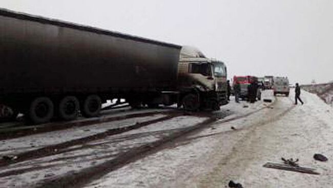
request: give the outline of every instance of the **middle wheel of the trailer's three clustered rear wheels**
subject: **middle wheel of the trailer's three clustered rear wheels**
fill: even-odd
[[[63,120],[74,120],[79,109],[79,102],[74,96],[67,96],[59,103],[59,117]]]

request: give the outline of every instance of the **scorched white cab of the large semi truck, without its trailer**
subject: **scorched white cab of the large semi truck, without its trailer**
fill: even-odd
[[[184,108],[218,110],[227,104],[226,73],[222,61],[206,58],[199,52],[182,54],[178,64],[178,87],[183,93]],[[188,101],[191,102],[186,104]]]

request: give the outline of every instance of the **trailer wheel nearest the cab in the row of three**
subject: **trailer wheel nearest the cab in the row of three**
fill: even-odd
[[[100,97],[96,95],[88,96],[81,105],[81,112],[85,117],[97,116],[100,112],[101,104],[102,101]]]

